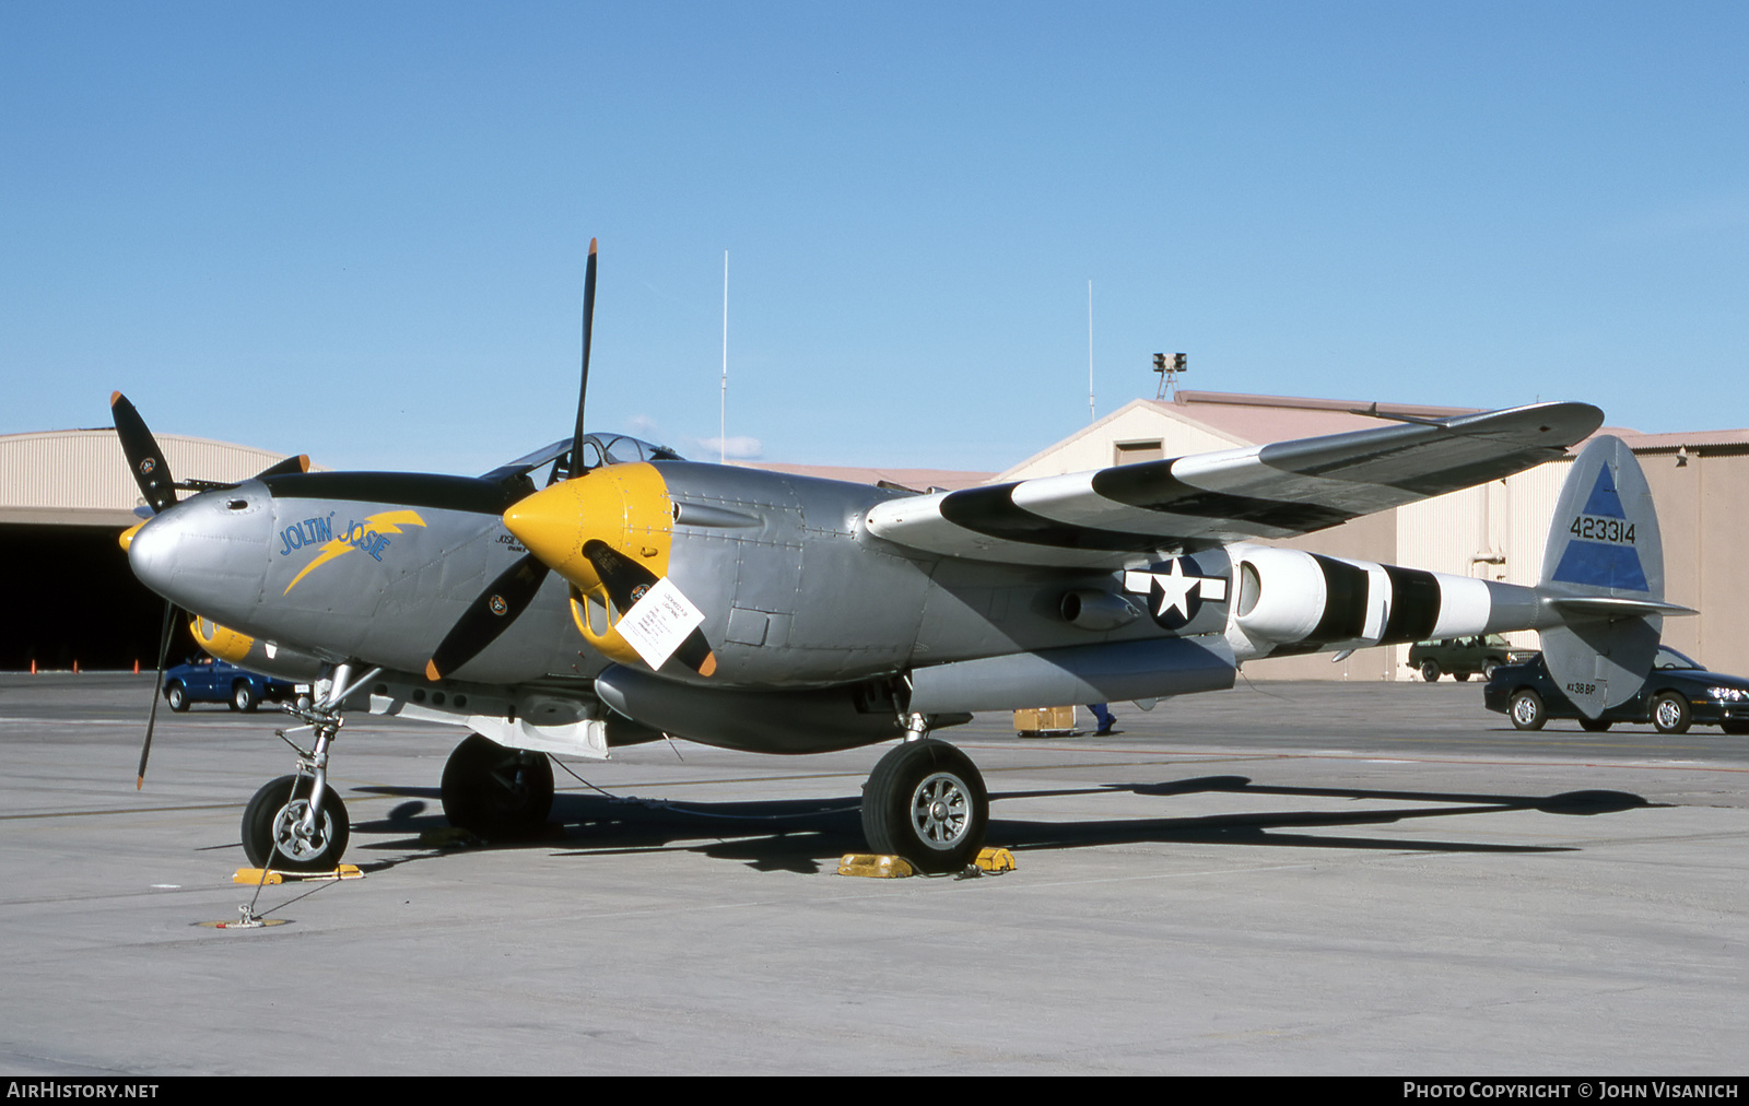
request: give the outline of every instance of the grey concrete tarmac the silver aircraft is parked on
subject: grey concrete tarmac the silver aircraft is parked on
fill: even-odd
[[[250,889],[280,716],[0,677],[0,1074],[1740,1074],[1749,740],[1518,733],[1478,684],[1242,684],[1119,735],[941,737],[985,878],[836,875],[883,747],[558,772],[547,838],[437,849],[453,728],[355,718],[367,877]],[[1086,712],[1083,710],[1083,718]]]

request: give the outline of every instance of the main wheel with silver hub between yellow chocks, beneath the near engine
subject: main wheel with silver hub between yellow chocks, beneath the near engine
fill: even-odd
[[[869,849],[902,856],[920,872],[958,872],[983,847],[990,793],[969,756],[948,742],[904,742],[880,758],[862,786]]]

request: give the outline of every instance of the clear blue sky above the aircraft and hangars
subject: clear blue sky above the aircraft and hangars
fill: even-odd
[[[1188,387],[1749,425],[1739,4],[0,5],[0,432],[1002,469]]]

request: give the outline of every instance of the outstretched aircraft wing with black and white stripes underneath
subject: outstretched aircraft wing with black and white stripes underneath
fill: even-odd
[[[1604,413],[1585,402],[1417,420],[890,499],[868,528],[971,560],[1116,569],[1163,551],[1293,537],[1565,455]]]

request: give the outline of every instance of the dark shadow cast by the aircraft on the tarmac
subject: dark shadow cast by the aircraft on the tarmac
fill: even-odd
[[[369,868],[441,856],[420,835],[449,828],[436,788],[366,788],[409,802],[388,817],[353,822],[355,847],[383,859]],[[1193,817],[1111,817],[1086,821],[1028,821],[1000,817],[1000,803],[1021,798],[1196,793],[1266,794],[1284,798],[1382,800],[1436,803],[1368,810],[1266,810]],[[1425,817],[1490,816],[1518,810],[1597,816],[1655,807],[1625,791],[1569,791],[1560,794],[1478,794],[1450,791],[1375,791],[1362,788],[1270,788],[1242,775],[1216,775],[1156,784],[1102,784],[1048,791],[993,791],[986,844],[1011,850],[1084,849],[1091,845],[1221,844],[1273,849],[1376,849],[1396,852],[1572,852],[1572,845],[1499,845],[1488,842],[1429,840],[1415,836],[1340,833],[1343,828],[1385,826]],[[357,835],[390,840],[357,842]],[[558,856],[612,856],[684,847],[710,858],[738,861],[757,872],[812,875],[836,868],[845,852],[866,849],[859,796],[820,800],[754,800],[679,803],[560,793],[544,831],[516,842],[490,842],[497,849],[561,849]],[[402,859],[388,854],[401,852]]]

